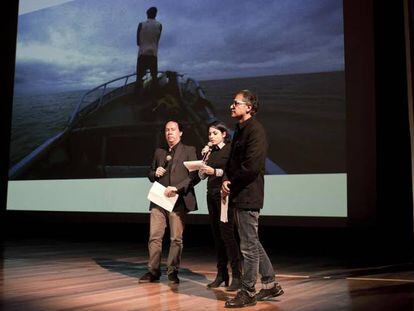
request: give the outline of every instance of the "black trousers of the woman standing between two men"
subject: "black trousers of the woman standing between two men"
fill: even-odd
[[[241,254],[236,240],[234,210],[228,210],[228,222],[220,221],[220,192],[207,194],[207,206],[217,255],[218,273],[227,273],[230,262],[233,278],[241,277]]]

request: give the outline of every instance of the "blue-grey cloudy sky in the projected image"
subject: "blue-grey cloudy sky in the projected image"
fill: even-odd
[[[16,94],[87,89],[135,72],[137,24],[154,5],[160,70],[211,80],[344,68],[342,0],[20,2]]]

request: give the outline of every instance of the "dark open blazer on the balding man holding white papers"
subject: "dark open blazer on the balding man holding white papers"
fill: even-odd
[[[178,143],[174,151],[173,159],[169,164],[171,167],[168,167],[169,172],[162,177],[155,177],[155,171],[157,170],[157,167],[164,166],[166,157],[166,148],[157,148],[155,150],[154,159],[148,172],[149,180],[151,182],[158,181],[164,186],[176,187],[178,189],[178,194],[183,199],[180,200],[179,198],[177,200],[176,206],[183,203],[184,207],[187,210],[197,210],[198,207],[194,193],[194,186],[200,181],[200,179],[198,177],[197,171],[189,173],[183,164],[184,161],[197,160],[195,147],[186,146],[181,142]],[[156,206],[156,204],[151,202],[150,209],[154,206]]]

